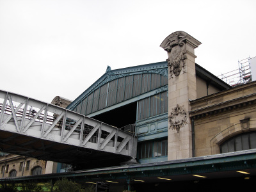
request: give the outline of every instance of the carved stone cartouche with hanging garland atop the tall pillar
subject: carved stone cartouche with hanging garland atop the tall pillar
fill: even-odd
[[[164,50],[168,52],[168,67],[170,70],[170,77],[179,76],[180,71],[183,69],[183,73],[186,72],[186,56],[184,55],[186,50],[186,44],[180,40],[179,33],[174,33],[168,39],[167,45]]]

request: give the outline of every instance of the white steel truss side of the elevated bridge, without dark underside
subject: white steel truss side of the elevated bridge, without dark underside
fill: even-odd
[[[0,90],[0,130],[136,157],[137,138],[68,109]]]

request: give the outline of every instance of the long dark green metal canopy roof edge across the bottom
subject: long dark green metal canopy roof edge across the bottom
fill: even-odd
[[[164,161],[161,163],[131,164],[125,166],[115,166],[108,168],[97,168],[92,170],[81,170],[67,173],[53,173],[46,175],[35,175],[27,177],[13,177],[0,179],[0,182],[12,180],[54,180],[67,177],[72,180],[96,181],[115,180],[127,178],[149,177],[176,177],[180,175],[225,173],[235,170],[251,170],[251,175],[256,175],[256,149],[231,152],[227,154],[217,154],[213,156],[193,157],[189,159],[179,159],[174,161]]]

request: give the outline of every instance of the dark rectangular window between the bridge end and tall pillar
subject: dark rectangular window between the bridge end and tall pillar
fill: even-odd
[[[167,156],[167,140],[138,143],[138,159]]]

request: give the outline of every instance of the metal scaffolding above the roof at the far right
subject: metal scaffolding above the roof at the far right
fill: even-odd
[[[238,61],[238,68],[225,74],[218,76],[222,81],[225,81],[230,86],[239,86],[252,81],[252,72],[250,67],[251,58]]]

